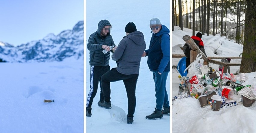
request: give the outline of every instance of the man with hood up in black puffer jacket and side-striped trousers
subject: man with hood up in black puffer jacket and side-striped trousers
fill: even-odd
[[[102,88],[101,88],[101,76],[105,74],[108,70],[110,70],[110,66],[108,65],[108,61],[110,59],[110,53],[103,53],[103,50],[111,51],[110,46],[115,45],[110,35],[111,24],[108,20],[101,20],[98,25],[98,30],[90,35],[88,39],[87,48],[90,50],[90,92],[87,97],[86,103],[86,116],[90,117],[92,115],[92,103],[93,98],[95,97],[98,89],[98,85],[100,85],[100,99],[99,101],[104,101]]]

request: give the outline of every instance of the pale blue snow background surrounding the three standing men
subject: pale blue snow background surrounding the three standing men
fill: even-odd
[[[97,10],[96,10],[97,9]],[[100,9],[100,10],[99,10]],[[105,11],[106,10],[106,11]],[[125,36],[125,26],[134,22],[138,31],[144,34],[147,49],[151,39],[149,21],[152,18],[160,19],[163,25],[170,29],[170,1],[87,1],[86,2],[86,43],[89,36],[98,28],[102,19],[107,19],[112,25],[111,35],[114,43],[118,45]],[[86,47],[85,47],[86,48]],[[89,51],[86,48],[86,98],[90,90]],[[110,68],[116,67],[116,62],[110,59]],[[169,74],[170,75],[170,74]],[[170,76],[166,82],[166,89],[170,99]],[[130,133],[130,132],[170,132],[170,116],[163,116],[159,120],[147,120],[156,106],[155,88],[152,72],[148,69],[147,57],[143,57],[140,65],[139,79],[136,87],[136,109],[134,122],[126,124],[128,101],[123,81],[111,83],[112,108],[107,110],[97,105],[99,90],[93,100],[92,116],[86,117],[86,132],[88,133]],[[85,100],[86,101],[86,100]],[[171,102],[170,102],[171,103]]]

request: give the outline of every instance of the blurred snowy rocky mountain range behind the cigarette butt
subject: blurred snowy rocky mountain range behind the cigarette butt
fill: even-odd
[[[72,30],[63,30],[56,36],[50,33],[41,40],[17,47],[0,42],[0,62],[51,62],[71,56],[84,58],[84,21]]]

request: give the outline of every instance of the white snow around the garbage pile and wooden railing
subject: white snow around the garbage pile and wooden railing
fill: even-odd
[[[197,33],[197,31],[196,31]],[[185,42],[182,40],[184,35],[192,36],[192,30],[184,28],[179,30],[175,26],[172,32],[172,54],[183,54],[180,47]],[[202,36],[207,56],[216,57],[238,57],[242,53],[242,45],[228,41],[225,37]],[[217,54],[214,51],[217,50]],[[172,58],[172,65],[177,65],[178,58]],[[221,59],[214,59],[220,61]],[[231,62],[241,62],[241,59],[231,59]],[[203,64],[203,59],[200,60]],[[209,63],[214,69],[218,70],[218,65]],[[240,66],[230,66],[230,73],[235,73]],[[172,97],[178,95],[177,69],[172,69]],[[246,73],[246,81],[242,85],[256,85],[256,72]],[[237,106],[221,108],[220,111],[212,111],[210,106],[201,108],[199,100],[195,98],[182,98],[175,100],[172,105],[172,132],[256,132],[256,104],[246,108],[241,103]]]

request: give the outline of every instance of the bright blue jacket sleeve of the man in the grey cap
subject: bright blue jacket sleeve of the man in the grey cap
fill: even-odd
[[[163,73],[164,69],[170,61],[170,36],[168,34],[163,34],[161,37],[161,49],[163,52],[163,58],[161,59],[157,71]]]

